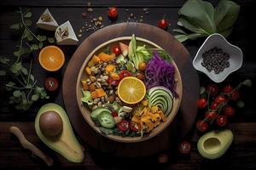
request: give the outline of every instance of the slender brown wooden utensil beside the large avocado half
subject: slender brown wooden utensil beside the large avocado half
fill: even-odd
[[[25,138],[24,134],[20,131],[20,128],[15,126],[9,127],[9,132],[15,134],[15,136],[20,140],[20,144],[23,148],[31,150],[33,154],[42,158],[49,167],[53,165],[53,159],[49,156],[46,156],[41,150],[38,149],[37,146],[29,142]]]

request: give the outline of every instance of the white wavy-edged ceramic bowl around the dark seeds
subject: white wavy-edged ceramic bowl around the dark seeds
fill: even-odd
[[[214,71],[207,71],[207,68],[201,65],[202,63],[202,54],[208,51],[211,48],[222,48],[224,53],[230,55],[230,67],[225,68],[224,71],[215,74]],[[230,44],[222,35],[215,33],[207,37],[206,41],[201,45],[201,48],[197,51],[195,59],[193,60],[193,66],[197,71],[205,73],[208,77],[214,82],[223,82],[230,73],[238,70],[242,64],[242,52],[241,49],[235,45]]]

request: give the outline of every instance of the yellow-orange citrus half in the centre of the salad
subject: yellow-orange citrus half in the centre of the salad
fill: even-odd
[[[136,77],[125,77],[119,82],[118,95],[126,104],[137,104],[146,94],[143,81]]]

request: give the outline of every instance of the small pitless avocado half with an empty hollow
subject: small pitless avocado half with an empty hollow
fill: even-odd
[[[223,156],[233,141],[230,129],[212,131],[204,134],[197,142],[197,150],[207,159],[217,159]]]

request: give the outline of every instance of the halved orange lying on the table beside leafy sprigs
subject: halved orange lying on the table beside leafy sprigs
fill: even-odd
[[[47,71],[58,71],[65,62],[61,48],[54,45],[43,48],[38,58],[40,65]]]

